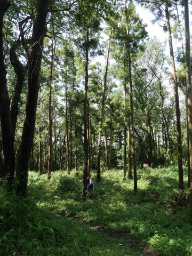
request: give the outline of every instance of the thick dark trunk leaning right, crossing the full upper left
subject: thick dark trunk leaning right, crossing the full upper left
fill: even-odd
[[[46,34],[45,22],[49,0],[37,0],[36,14],[31,37],[28,58],[28,91],[26,102],[26,117],[23,125],[21,145],[17,165],[17,194],[25,195],[28,180],[28,167],[31,147],[34,139],[35,118],[39,90],[39,71],[42,60],[43,39]]]

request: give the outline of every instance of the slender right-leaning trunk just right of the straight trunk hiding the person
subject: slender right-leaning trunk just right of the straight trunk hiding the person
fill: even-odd
[[[107,73],[108,73],[109,51],[110,51],[110,37],[109,37],[108,47],[107,47],[107,59],[106,59],[106,67],[105,67],[105,74],[104,74],[103,88],[102,88],[101,112],[100,112],[100,123],[99,123],[99,137],[98,137],[97,181],[100,181],[100,179],[101,179],[101,171],[100,171],[101,133],[102,133],[103,112],[104,112],[105,97],[106,97],[105,94],[106,94],[106,86],[107,86]],[[106,161],[106,164],[107,164],[107,161]],[[107,166],[107,165],[106,165],[106,166]]]

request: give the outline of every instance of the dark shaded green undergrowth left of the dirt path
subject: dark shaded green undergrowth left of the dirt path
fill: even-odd
[[[41,192],[35,190],[37,183],[43,185]],[[30,185],[27,198],[6,196],[1,188],[1,255],[140,255],[130,254],[126,244],[120,247],[115,239],[102,234],[98,236],[97,231],[82,223],[47,211],[43,202],[46,201],[51,207],[59,197],[49,197],[49,193],[45,197],[45,186],[44,179],[36,180]],[[55,205],[52,210],[55,211]]]

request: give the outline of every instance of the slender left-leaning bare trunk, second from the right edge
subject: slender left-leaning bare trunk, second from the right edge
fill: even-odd
[[[177,143],[178,143],[178,171],[179,171],[179,189],[183,190],[183,169],[182,169],[182,141],[181,141],[181,122],[180,122],[180,109],[179,109],[179,93],[177,85],[177,76],[175,74],[175,63],[174,63],[174,54],[173,54],[173,45],[171,37],[171,26],[169,19],[169,10],[167,3],[165,2],[165,14],[166,14],[166,24],[167,32],[169,36],[169,46],[170,46],[170,57],[171,57],[171,66],[172,66],[172,76],[174,82],[174,94],[175,94],[175,108],[176,108],[176,117],[177,117]]]

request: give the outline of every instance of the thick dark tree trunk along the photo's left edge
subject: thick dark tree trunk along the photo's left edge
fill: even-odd
[[[14,179],[14,132],[10,111],[10,98],[6,84],[6,70],[4,66],[3,17],[10,5],[10,1],[0,0],[0,118],[3,145],[3,170],[0,170],[0,176],[7,179],[8,189],[10,189]]]

